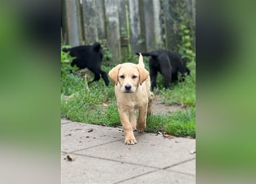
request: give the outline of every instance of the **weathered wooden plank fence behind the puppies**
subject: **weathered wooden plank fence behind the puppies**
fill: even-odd
[[[62,0],[62,45],[101,40],[116,63],[134,52],[177,51],[181,16],[195,37],[195,1]]]

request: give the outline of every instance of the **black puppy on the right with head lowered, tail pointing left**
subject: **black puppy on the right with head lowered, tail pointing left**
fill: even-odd
[[[136,53],[139,55],[139,53]],[[178,82],[178,72],[181,74],[179,81],[185,81],[185,72],[190,74],[190,70],[185,66],[184,60],[177,52],[170,52],[166,50],[156,50],[152,52],[144,52],[143,56],[150,57],[150,78],[151,89],[156,87],[156,75],[160,72],[165,78],[165,88],[170,87],[171,82]]]

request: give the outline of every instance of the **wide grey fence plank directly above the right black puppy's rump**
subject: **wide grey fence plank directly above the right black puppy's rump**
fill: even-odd
[[[161,6],[159,1],[144,0],[144,26],[146,30],[146,49],[150,51],[157,49],[163,44],[161,38]]]

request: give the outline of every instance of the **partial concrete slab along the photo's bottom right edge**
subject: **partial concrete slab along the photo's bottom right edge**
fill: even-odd
[[[167,170],[159,170],[156,172],[148,173],[140,177],[132,178],[119,183],[179,183],[179,184],[194,184],[196,183],[196,176],[175,173]]]

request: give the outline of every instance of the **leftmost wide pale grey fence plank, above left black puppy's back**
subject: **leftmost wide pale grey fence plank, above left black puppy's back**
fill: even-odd
[[[79,45],[79,29],[76,0],[66,0],[65,2],[66,22],[67,22],[67,40],[71,47]]]

